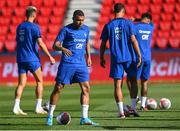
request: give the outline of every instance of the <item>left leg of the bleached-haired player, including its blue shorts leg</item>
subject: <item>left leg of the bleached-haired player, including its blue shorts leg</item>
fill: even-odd
[[[13,107],[13,113],[16,115],[27,115],[27,113],[24,113],[20,108],[21,96],[22,96],[22,93],[26,86],[26,81],[27,81],[26,70],[25,70],[23,64],[21,64],[21,63],[20,64],[18,63],[18,74],[19,74],[18,85],[15,90],[15,103],[14,103],[14,107]]]

